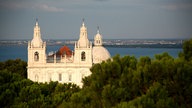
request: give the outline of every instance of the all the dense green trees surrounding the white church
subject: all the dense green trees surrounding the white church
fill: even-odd
[[[16,62],[16,63],[15,63]],[[0,63],[0,107],[60,108],[191,108],[192,40],[178,58],[116,55],[91,68],[83,88],[74,84],[34,83],[26,63]]]

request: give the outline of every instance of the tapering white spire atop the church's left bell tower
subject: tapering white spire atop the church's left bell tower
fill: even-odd
[[[36,19],[36,24],[34,27],[33,39],[31,41],[31,44],[33,47],[42,47],[42,44],[43,44],[43,41],[41,39],[41,31],[40,31],[40,27],[38,25],[37,19]]]

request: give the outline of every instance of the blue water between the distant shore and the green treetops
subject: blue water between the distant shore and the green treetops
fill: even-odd
[[[47,46],[47,53],[51,51],[57,51],[60,47],[61,46]],[[69,48],[73,50],[74,46],[70,45]],[[141,56],[149,56],[153,58],[155,54],[161,54],[163,52],[168,52],[171,56],[176,58],[178,56],[178,53],[182,51],[181,48],[106,48],[108,49],[111,56],[120,54],[121,56],[131,55],[137,58]],[[0,61],[17,58],[27,61],[27,45],[0,46]]]

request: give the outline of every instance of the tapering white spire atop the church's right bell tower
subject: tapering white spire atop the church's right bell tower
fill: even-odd
[[[89,46],[90,46],[90,44],[89,44],[89,40],[87,37],[87,28],[86,28],[84,20],[83,20],[82,26],[80,28],[80,36],[79,36],[77,47],[87,48]]]

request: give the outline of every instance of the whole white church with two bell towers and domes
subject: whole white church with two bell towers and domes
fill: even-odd
[[[91,74],[93,64],[110,58],[110,53],[102,46],[99,30],[94,37],[94,46],[89,41],[84,21],[80,27],[79,40],[74,44],[74,51],[63,46],[52,55],[46,53],[46,42],[41,39],[40,27],[36,21],[33,39],[28,42],[28,79],[42,83],[74,83],[82,87],[82,78]]]

